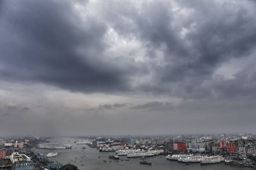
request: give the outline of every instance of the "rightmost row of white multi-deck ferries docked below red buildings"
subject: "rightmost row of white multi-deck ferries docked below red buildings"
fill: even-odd
[[[166,159],[178,160],[179,162],[200,162],[201,164],[218,163],[225,159],[220,156],[201,156],[192,154],[177,154],[177,155],[167,155]]]

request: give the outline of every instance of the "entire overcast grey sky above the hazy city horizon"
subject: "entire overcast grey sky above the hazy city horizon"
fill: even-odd
[[[255,132],[255,1],[0,1],[0,136]]]

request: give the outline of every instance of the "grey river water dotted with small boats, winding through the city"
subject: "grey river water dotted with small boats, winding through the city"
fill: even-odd
[[[68,142],[70,141],[70,142]],[[201,165],[200,163],[186,165],[183,162],[175,160],[168,160],[166,156],[159,155],[156,157],[146,157],[147,161],[152,161],[152,165],[141,164],[139,161],[141,158],[127,158],[126,156],[119,156],[119,159],[109,159],[108,154],[115,155],[115,152],[99,152],[96,148],[90,148],[87,145],[76,145],[73,138],[52,138],[51,143],[65,143],[73,145],[72,149],[58,149],[52,150],[58,152],[58,156],[49,158],[51,161],[59,161],[63,164],[70,162],[76,165],[80,170],[150,170],[150,169],[172,169],[172,170],[252,170],[236,164],[225,165],[224,162],[216,164]],[[86,149],[82,149],[86,147]],[[49,149],[33,148],[35,152],[42,152],[47,154],[52,152]],[[100,158],[98,158],[100,157]],[[77,158],[77,159],[76,159]],[[129,161],[126,161],[128,159]],[[73,161],[71,161],[73,160]],[[104,162],[106,160],[107,162]],[[123,161],[121,161],[123,160]],[[74,162],[76,161],[76,162]],[[80,162],[83,161],[83,162]],[[112,162],[109,162],[112,161]],[[118,161],[118,162],[116,162]],[[84,166],[81,166],[84,164]]]

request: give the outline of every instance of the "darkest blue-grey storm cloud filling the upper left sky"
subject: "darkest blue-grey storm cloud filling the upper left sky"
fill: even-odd
[[[82,92],[129,89],[125,71],[102,60],[107,26],[90,17],[83,22],[69,1],[5,1],[0,23],[1,79]]]

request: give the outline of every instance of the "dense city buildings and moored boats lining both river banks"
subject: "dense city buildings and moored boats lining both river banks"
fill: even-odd
[[[53,137],[8,136],[0,138],[0,170],[54,170],[65,162],[54,163],[49,158],[58,156],[58,150],[72,150],[80,145],[97,152],[114,153],[127,158],[160,157],[180,163],[221,163],[256,168],[256,134],[179,135],[179,136],[85,136],[71,137],[73,145],[51,143]],[[62,139],[62,137],[59,137]],[[86,147],[85,147],[86,145]],[[56,155],[36,152],[33,148],[54,150]],[[100,158],[100,157],[99,157]],[[218,160],[220,159],[220,160]],[[129,159],[125,159],[129,160]],[[140,160],[140,161],[141,161]],[[73,160],[72,160],[73,161]],[[104,160],[107,162],[106,160]],[[122,161],[122,160],[121,160]],[[208,161],[208,162],[205,162]],[[76,164],[76,161],[71,163]],[[82,162],[82,161],[81,161]],[[112,162],[112,161],[109,161]],[[118,161],[116,161],[118,162]],[[151,161],[144,161],[152,164]],[[143,161],[141,161],[143,163]],[[154,162],[156,163],[156,162]],[[70,164],[70,162],[68,163]],[[82,163],[81,163],[82,164]],[[224,163],[223,163],[224,164]],[[84,164],[82,164],[84,165]],[[86,165],[85,165],[86,168]]]

